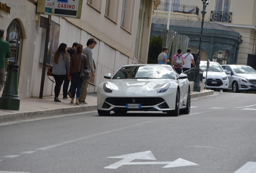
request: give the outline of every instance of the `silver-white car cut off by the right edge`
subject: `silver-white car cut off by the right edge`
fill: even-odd
[[[227,70],[229,89],[239,91],[256,91],[256,70],[245,65],[222,65]]]

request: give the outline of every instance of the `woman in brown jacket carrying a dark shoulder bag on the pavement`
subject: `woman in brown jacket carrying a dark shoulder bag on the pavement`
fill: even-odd
[[[87,56],[83,54],[83,45],[77,44],[76,52],[71,56],[69,77],[68,79],[73,82],[72,87],[72,97],[71,102],[74,103],[74,98],[76,95],[76,105],[79,105],[79,98],[81,94],[81,87],[83,80],[80,78],[80,72],[82,69],[88,69],[88,59]]]

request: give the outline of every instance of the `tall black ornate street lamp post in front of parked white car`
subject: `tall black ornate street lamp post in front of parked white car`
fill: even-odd
[[[201,52],[201,43],[202,43],[202,30],[204,26],[204,16],[206,14],[206,6],[209,4],[209,0],[202,0],[203,3],[203,10],[201,11],[202,13],[202,24],[201,24],[201,34],[200,34],[200,40],[199,40],[199,46],[198,46],[198,58],[196,60],[196,68],[195,68],[195,76],[194,76],[194,90],[200,92],[201,87],[200,87],[200,76],[199,76],[199,71],[200,71],[200,52]]]

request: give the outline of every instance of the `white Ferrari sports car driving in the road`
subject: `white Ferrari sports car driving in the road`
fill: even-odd
[[[169,116],[190,112],[190,84],[186,74],[178,74],[167,64],[132,64],[120,68],[97,89],[99,115],[110,111],[162,111]]]

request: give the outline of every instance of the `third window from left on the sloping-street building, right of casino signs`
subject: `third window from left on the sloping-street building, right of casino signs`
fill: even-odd
[[[129,32],[132,31],[133,12],[134,1],[123,0],[121,26]]]

